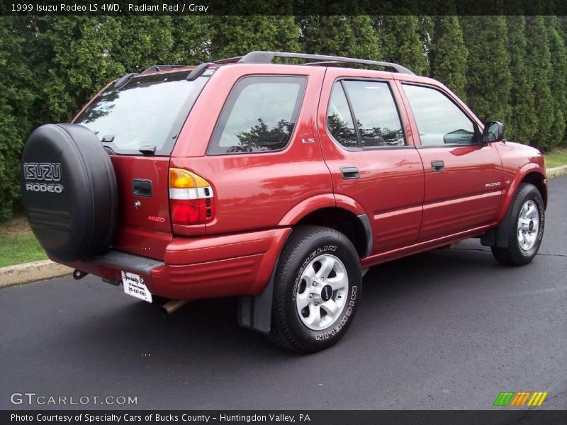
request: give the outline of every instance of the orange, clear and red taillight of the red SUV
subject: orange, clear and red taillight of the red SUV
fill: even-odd
[[[174,225],[203,225],[215,217],[213,188],[203,177],[169,169],[169,207]]]

